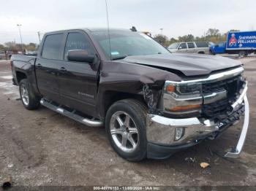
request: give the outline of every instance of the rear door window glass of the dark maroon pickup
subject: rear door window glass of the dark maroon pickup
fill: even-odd
[[[60,60],[64,34],[49,34],[42,47],[42,58]]]

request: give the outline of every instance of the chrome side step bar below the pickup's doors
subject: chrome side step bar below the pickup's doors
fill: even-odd
[[[73,112],[69,112],[67,109],[61,108],[61,105],[56,106],[52,104],[51,101],[47,101],[45,98],[42,98],[40,101],[42,106],[47,107],[48,109],[53,110],[54,112],[58,112],[59,114],[63,114],[72,120],[76,120],[78,122],[83,123],[84,125],[88,125],[91,127],[100,127],[103,125],[102,121],[94,120],[94,119],[87,119],[85,117],[80,116],[79,114],[75,114],[75,110]]]

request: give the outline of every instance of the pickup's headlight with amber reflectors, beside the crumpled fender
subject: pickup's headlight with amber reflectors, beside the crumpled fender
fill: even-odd
[[[165,113],[200,113],[202,104],[202,85],[200,83],[165,82],[163,93]]]

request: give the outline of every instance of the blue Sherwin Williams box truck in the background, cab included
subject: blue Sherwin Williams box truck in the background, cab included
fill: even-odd
[[[230,31],[227,33],[227,42],[220,42],[210,47],[210,53],[238,54],[242,56],[256,53],[256,31]]]

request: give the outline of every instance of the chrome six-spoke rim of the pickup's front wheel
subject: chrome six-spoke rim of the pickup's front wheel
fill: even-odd
[[[116,112],[112,115],[110,133],[116,146],[124,152],[133,152],[138,146],[138,128],[126,112]]]

